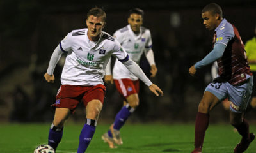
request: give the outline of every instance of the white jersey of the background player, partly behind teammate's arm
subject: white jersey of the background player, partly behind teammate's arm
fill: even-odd
[[[140,27],[140,33],[135,34],[130,25],[118,29],[114,33],[114,37],[118,40],[124,50],[129,55],[129,59],[139,64],[141,55],[145,50],[152,47],[152,38],[149,29]],[[120,61],[116,59],[113,68],[113,78],[130,78],[131,80],[138,80],[138,77],[133,75]]]

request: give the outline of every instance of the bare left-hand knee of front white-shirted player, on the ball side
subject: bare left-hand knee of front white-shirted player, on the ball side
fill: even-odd
[[[53,120],[54,126],[63,126],[70,113],[69,108],[56,108]]]

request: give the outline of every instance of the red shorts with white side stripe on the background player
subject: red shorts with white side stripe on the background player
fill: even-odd
[[[138,94],[140,89],[140,82],[139,80],[132,81],[129,78],[122,78],[122,79],[114,79],[116,89],[120,94],[127,98],[131,94]]]

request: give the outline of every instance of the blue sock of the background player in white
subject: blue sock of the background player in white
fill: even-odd
[[[113,128],[120,130],[132,112],[134,112],[134,108],[129,106],[129,104],[123,106],[122,109],[116,114]]]

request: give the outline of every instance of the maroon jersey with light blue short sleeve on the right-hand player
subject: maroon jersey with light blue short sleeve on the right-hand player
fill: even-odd
[[[218,59],[218,75],[232,85],[246,80],[246,75],[252,75],[243,41],[236,27],[223,19],[215,29],[214,44],[226,45],[223,56]]]

